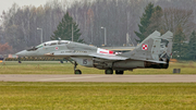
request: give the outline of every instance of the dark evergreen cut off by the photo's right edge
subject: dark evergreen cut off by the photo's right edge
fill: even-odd
[[[189,37],[189,44],[188,44],[188,58],[189,60],[196,60],[196,32],[194,30]]]

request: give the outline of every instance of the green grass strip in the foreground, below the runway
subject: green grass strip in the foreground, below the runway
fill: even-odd
[[[195,83],[5,83],[0,110],[195,110]]]

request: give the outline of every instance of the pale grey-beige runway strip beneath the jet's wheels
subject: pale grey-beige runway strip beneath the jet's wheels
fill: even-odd
[[[196,75],[0,74],[0,82],[196,83]]]

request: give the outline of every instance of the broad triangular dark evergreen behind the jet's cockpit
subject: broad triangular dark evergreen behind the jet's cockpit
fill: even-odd
[[[66,12],[62,21],[57,26],[57,30],[53,32],[53,35],[50,38],[52,40],[57,40],[59,38],[62,40],[72,40],[72,33],[73,41],[83,42],[83,39],[79,39],[82,34],[79,33],[78,25],[73,21],[72,16],[69,15],[69,12]]]

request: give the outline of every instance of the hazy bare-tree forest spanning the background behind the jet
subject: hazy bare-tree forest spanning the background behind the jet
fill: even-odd
[[[42,28],[44,41],[48,41],[66,12],[81,29],[79,39],[95,46],[105,42],[105,32],[100,27],[107,28],[108,46],[122,46],[126,42],[126,34],[136,45],[155,29],[161,34],[171,30],[174,35],[182,32],[185,39],[181,42],[186,45],[194,36],[196,0],[81,0],[72,4],[68,1],[54,0],[38,8],[21,8],[14,3],[1,14],[0,44],[9,42],[13,52],[39,45],[37,27]],[[176,58],[185,59],[179,53]]]

